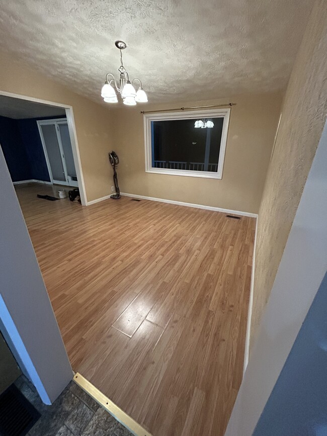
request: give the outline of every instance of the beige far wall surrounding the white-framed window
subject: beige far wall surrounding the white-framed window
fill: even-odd
[[[174,105],[115,109],[114,148],[122,192],[258,213],[280,114],[281,94],[241,95]],[[143,115],[158,110],[233,102],[222,180],[145,172]]]

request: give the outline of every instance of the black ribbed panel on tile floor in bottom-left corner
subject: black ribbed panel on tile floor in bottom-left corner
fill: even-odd
[[[14,384],[0,395],[1,436],[24,436],[40,416]]]

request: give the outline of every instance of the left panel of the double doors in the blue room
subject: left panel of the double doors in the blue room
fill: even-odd
[[[48,155],[53,183],[66,184],[66,174],[61,158],[61,150],[56,133],[56,125],[40,124],[44,145]]]

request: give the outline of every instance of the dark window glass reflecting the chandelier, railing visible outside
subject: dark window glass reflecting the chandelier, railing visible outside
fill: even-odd
[[[152,167],[217,172],[223,122],[222,117],[151,121]]]

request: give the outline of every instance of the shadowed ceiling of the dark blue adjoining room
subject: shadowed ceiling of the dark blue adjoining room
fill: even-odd
[[[19,120],[23,118],[57,117],[65,114],[64,109],[55,106],[0,96],[0,115],[3,117]]]

